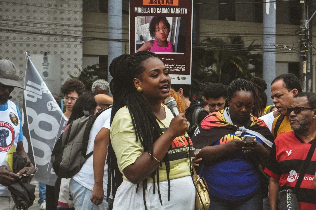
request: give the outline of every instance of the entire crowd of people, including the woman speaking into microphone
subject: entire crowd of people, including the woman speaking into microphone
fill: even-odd
[[[316,144],[316,94],[302,92],[295,75],[272,81],[273,104],[267,104],[267,84],[258,77],[206,83],[198,102],[190,85],[171,84],[168,69],[149,51],[121,55],[109,71],[111,83],[97,80],[90,91],[77,79],[61,87],[68,125],[83,111],[105,110],[89,134],[87,154],[93,155],[73,177],[46,185],[46,209],[193,210],[190,158],[208,185],[210,210],[276,210],[284,189],[295,191],[301,210],[316,209],[316,152],[306,164]],[[1,210],[15,208],[7,186],[35,172],[31,164],[15,174],[5,161],[12,143],[28,158],[21,114],[9,101],[14,87],[23,88],[18,72],[0,60]],[[164,105],[169,96],[176,116]]]

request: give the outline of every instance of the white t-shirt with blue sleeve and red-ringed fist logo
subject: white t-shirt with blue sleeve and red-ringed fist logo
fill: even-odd
[[[8,101],[0,105],[0,166],[7,165],[5,157],[12,145],[23,140],[21,114],[15,103]],[[9,166],[8,166],[9,167]],[[11,196],[8,187],[0,184],[0,195]]]

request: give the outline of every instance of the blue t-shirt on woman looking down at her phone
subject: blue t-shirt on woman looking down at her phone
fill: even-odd
[[[228,134],[216,141],[213,145],[226,144],[232,139],[242,139],[234,133]],[[253,135],[252,135],[253,136]],[[258,143],[263,144],[256,137]],[[203,164],[200,176],[208,184],[209,194],[219,199],[238,201],[245,200],[256,194],[261,187],[260,177],[257,171],[259,160],[243,151],[228,154],[217,159],[210,165]]]

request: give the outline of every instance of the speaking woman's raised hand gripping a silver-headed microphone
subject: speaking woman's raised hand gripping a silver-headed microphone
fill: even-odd
[[[165,105],[171,110],[174,116],[170,122],[170,130],[174,132],[175,137],[184,135],[185,138],[188,138],[189,135],[186,133],[189,130],[187,120],[183,113],[179,113],[176,100],[173,97],[167,97]]]

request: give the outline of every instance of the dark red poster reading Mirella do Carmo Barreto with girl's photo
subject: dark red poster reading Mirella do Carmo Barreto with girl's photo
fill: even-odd
[[[130,54],[155,52],[172,84],[191,84],[192,5],[192,0],[130,1]]]

